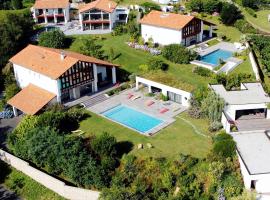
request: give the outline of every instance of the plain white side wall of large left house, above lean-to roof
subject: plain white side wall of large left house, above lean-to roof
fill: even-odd
[[[17,84],[20,88],[24,88],[31,83],[59,96],[60,90],[57,86],[57,80],[51,79],[16,64],[13,64],[13,69]]]

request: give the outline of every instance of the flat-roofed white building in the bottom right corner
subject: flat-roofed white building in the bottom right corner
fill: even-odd
[[[264,131],[233,134],[245,188],[270,193],[270,139]],[[264,198],[263,198],[264,199]]]

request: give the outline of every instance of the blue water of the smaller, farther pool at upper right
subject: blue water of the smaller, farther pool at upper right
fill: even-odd
[[[218,49],[205,56],[202,56],[200,58],[200,61],[210,63],[212,65],[219,65],[219,59],[226,60],[232,57],[232,55],[233,53],[231,51],[224,51],[224,50]]]

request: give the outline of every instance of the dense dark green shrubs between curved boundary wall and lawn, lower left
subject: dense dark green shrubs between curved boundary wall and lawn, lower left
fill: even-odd
[[[84,140],[71,136],[87,114],[73,108],[54,106],[39,116],[27,116],[9,136],[9,148],[54,175],[63,174],[87,188],[108,186],[117,164],[116,140],[104,133]]]

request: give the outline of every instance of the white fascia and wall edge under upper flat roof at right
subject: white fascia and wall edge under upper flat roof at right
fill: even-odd
[[[235,120],[235,114],[237,110],[248,110],[248,109],[260,109],[266,108],[266,104],[244,104],[244,105],[227,105],[224,108],[224,112],[232,119]]]

